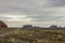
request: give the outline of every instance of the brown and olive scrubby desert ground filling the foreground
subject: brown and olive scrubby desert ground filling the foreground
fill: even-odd
[[[65,30],[20,29],[0,37],[0,43],[65,43]]]

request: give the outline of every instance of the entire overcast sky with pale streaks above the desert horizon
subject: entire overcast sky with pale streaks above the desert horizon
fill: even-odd
[[[0,20],[9,27],[65,26],[65,0],[0,0]]]

